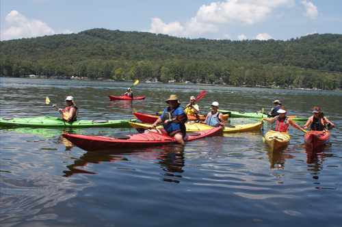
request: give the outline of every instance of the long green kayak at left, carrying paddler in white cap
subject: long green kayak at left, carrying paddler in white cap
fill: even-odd
[[[27,126],[27,127],[58,127],[58,128],[95,128],[111,126],[129,126],[129,120],[77,120],[75,122],[64,122],[62,118],[39,117],[39,118],[0,118],[0,126]]]

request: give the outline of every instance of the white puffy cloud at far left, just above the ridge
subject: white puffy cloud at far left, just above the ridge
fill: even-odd
[[[11,26],[9,29],[1,31],[1,40],[12,40],[18,38],[31,38],[37,36],[53,35],[55,31],[47,26],[47,23],[36,19],[27,19],[18,11],[11,11],[5,20]]]

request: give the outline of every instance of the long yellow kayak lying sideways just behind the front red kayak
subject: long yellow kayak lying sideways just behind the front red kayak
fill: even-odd
[[[150,124],[142,124],[136,122],[129,122],[134,129],[145,129],[150,127]],[[157,126],[157,129],[163,126]],[[187,132],[196,132],[196,131],[203,131],[207,129],[213,129],[215,127],[209,126],[207,124],[200,124],[196,122],[187,122],[185,123],[185,127]],[[242,131],[252,131],[256,129],[261,129],[261,122],[255,124],[235,124],[235,125],[226,125],[222,130],[223,133],[237,133]]]

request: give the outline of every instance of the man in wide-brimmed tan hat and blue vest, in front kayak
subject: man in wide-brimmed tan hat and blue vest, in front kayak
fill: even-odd
[[[161,133],[163,135],[170,135],[171,137],[174,137],[176,139],[177,144],[184,145],[183,138],[186,135],[186,128],[185,124],[179,122],[178,120],[175,120],[177,116],[180,114],[184,114],[184,110],[178,101],[178,96],[175,94],[171,94],[170,98],[166,100],[166,103],[168,103],[168,107],[164,109],[163,114],[151,125],[151,131]],[[186,115],[185,115],[186,116]],[[171,120],[174,120],[172,123],[169,123]],[[164,126],[162,129],[155,129],[157,124],[160,124],[164,122]]]

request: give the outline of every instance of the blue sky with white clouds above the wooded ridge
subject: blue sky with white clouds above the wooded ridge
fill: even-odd
[[[1,0],[1,40],[105,28],[185,38],[342,34],[341,0]]]

